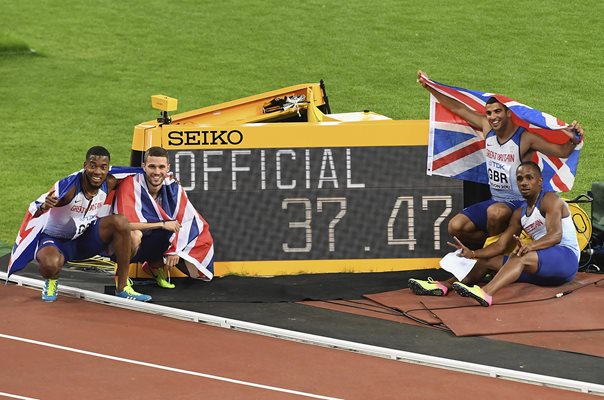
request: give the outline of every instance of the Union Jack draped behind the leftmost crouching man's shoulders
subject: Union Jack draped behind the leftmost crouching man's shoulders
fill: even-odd
[[[109,172],[116,178],[120,179],[140,171],[142,171],[141,168],[135,167],[111,167]],[[23,222],[21,222],[21,227],[19,228],[19,233],[17,234],[17,239],[15,240],[15,244],[13,245],[10,259],[8,261],[8,276],[10,276],[12,273],[22,270],[25,268],[27,263],[34,259],[36,250],[38,248],[38,239],[46,226],[46,222],[48,221],[48,212],[45,212],[34,218],[34,215],[38,211],[38,207],[44,203],[46,196],[53,191],[54,195],[58,198],[58,201],[61,201],[76,184],[78,179],[80,179],[82,173],[83,170],[80,170],[69,176],[66,176],[65,178],[56,182],[47,193],[42,194],[29,204],[25,217],[23,218]],[[99,217],[109,214],[111,204],[109,197],[110,196],[108,196],[105,206],[99,210]]]

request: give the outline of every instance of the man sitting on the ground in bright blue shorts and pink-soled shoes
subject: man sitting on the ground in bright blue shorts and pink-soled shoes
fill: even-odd
[[[516,181],[525,202],[514,211],[499,240],[478,250],[470,250],[456,237],[455,243],[449,243],[461,250],[459,256],[478,259],[468,276],[461,282],[454,278],[443,282],[409,279],[409,288],[415,294],[444,296],[453,288],[461,296],[488,307],[492,296],[510,283],[558,286],[575,277],[580,251],[568,205],[556,193],[542,191],[541,170],[532,161],[520,164]],[[520,241],[523,229],[531,242]],[[516,249],[509,257],[503,255],[514,242]],[[493,271],[496,274],[488,284],[482,288],[476,285]]]

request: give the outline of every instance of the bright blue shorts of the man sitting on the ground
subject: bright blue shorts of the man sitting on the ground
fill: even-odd
[[[537,250],[539,258],[536,274],[523,272],[516,282],[528,282],[540,286],[559,286],[574,279],[579,269],[579,258],[565,246],[552,246]],[[503,262],[508,257],[503,257]]]

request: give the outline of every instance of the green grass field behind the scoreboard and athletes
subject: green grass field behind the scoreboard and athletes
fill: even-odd
[[[417,69],[580,120],[583,193],[604,180],[601,15],[598,0],[7,2],[0,43],[42,56],[0,56],[0,240],[88,147],[127,164],[153,94],[185,111],[324,79],[334,112],[426,119]]]

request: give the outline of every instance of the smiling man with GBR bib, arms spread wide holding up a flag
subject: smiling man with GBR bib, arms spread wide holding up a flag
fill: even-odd
[[[422,75],[426,76],[418,71],[418,78]],[[512,213],[522,203],[514,175],[520,163],[530,161],[535,152],[568,157],[581,142],[583,128],[573,121],[569,134],[572,133],[575,138],[554,144],[514,124],[512,112],[495,97],[487,101],[483,115],[441,94],[422,80],[419,82],[445,108],[479,130],[485,139],[491,198],[463,209],[451,219],[448,226],[451,236],[466,245],[480,247],[487,237],[497,236],[506,229]]]

